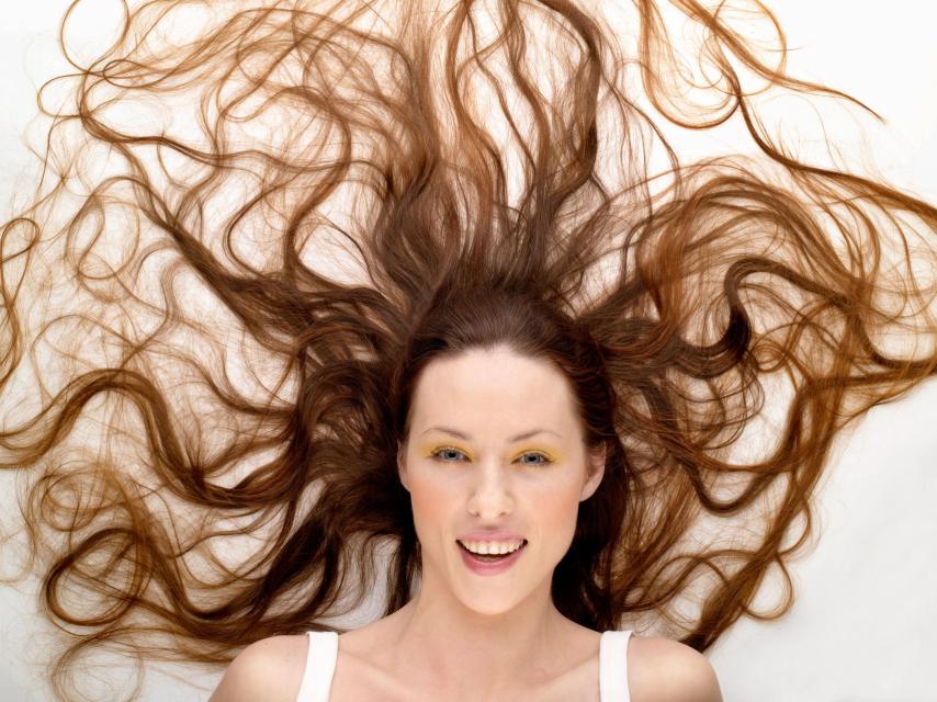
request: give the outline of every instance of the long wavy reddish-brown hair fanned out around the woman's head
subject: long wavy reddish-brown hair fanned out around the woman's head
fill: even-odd
[[[396,453],[441,354],[563,370],[607,465],[554,602],[699,650],[790,608],[834,439],[936,372],[937,210],[771,140],[743,71],[874,113],[788,75],[759,2],[771,45],[667,8],[707,105],[650,0],[633,36],[573,0],[147,0],[86,60],[78,4],[0,240],[0,465],[61,699],[99,646],[221,666],[406,603]],[[681,163],[651,107],[737,112],[758,154]]]

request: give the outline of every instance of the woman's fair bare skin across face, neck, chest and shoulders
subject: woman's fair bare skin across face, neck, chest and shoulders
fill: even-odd
[[[563,616],[550,597],[579,502],[605,468],[602,453],[585,446],[563,373],[506,347],[432,361],[417,383],[398,468],[421,546],[419,591],[340,636],[329,699],[598,700],[599,633]],[[528,544],[510,569],[481,576],[464,565],[456,537],[495,528]],[[258,642],[212,701],[292,702],[305,655],[305,636]],[[688,646],[633,636],[626,655],[633,702],[722,700],[711,666]]]

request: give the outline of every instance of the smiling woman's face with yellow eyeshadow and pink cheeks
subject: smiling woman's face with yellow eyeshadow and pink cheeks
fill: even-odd
[[[498,347],[424,369],[398,465],[422,552],[421,591],[442,588],[473,610],[496,614],[538,589],[549,593],[605,456],[587,461],[563,373]],[[489,531],[527,541],[496,574],[473,569],[460,545],[486,541],[466,536]]]

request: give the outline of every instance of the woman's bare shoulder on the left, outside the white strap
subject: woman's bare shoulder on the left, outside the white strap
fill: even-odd
[[[305,634],[270,636],[240,652],[208,702],[295,702],[306,668]]]

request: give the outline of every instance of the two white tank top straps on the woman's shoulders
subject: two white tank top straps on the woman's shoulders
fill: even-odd
[[[328,702],[335,664],[338,659],[336,632],[307,632],[309,648],[296,702]],[[607,631],[599,637],[599,699],[629,702],[628,639],[631,631]]]

